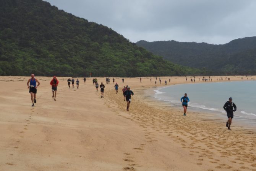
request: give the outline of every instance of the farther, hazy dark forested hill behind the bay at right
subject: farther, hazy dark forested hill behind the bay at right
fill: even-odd
[[[206,68],[214,74],[256,74],[255,36],[219,45],[173,40],[138,41],[136,44],[174,63]]]

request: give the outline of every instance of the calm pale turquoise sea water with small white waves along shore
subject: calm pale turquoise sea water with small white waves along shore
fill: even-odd
[[[171,106],[181,106],[180,98],[188,93],[190,109],[210,111],[220,116],[225,116],[223,106],[232,97],[237,106],[235,117],[256,124],[256,81],[177,84],[154,91],[157,100]]]

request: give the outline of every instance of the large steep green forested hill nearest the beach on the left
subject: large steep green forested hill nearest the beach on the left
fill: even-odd
[[[201,71],[167,62],[42,0],[0,1],[0,75],[167,76]]]

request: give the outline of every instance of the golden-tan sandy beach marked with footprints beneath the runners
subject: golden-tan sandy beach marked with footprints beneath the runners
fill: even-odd
[[[166,110],[147,101],[143,90],[155,78],[125,78],[124,84],[116,78],[118,94],[112,78],[110,84],[98,78],[106,87],[104,98],[90,78],[86,85],[80,78],[79,89],[68,89],[68,78],[58,78],[57,101],[51,78],[36,78],[41,85],[31,107],[29,77],[0,77],[0,171],[256,171],[253,130],[228,131],[226,120],[189,110],[183,117],[182,108]],[[170,79],[186,83],[184,77]],[[134,92],[128,112],[121,92],[126,84]]]

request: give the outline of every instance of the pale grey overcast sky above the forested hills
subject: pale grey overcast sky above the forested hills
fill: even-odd
[[[256,36],[256,0],[45,0],[139,40],[224,44]]]

